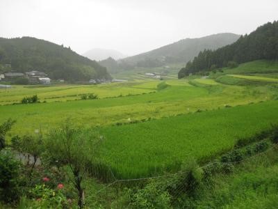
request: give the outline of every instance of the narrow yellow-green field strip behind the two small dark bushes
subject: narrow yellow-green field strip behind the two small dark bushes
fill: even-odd
[[[149,93],[156,90],[158,81],[151,81],[147,86],[142,82],[113,83],[99,85],[63,85],[63,86],[17,86],[0,88],[0,104],[13,104],[30,95],[39,95],[41,101],[56,102],[80,99],[84,93],[95,93],[99,98],[119,95]]]

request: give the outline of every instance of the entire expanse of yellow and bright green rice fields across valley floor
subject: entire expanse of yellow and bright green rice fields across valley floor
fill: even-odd
[[[235,75],[239,68],[243,66],[227,75],[224,70],[216,79],[14,86],[0,90],[0,104],[7,104],[0,105],[0,123],[8,118],[17,121],[10,139],[40,128],[47,133],[70,118],[87,130],[99,127],[105,137],[99,157],[117,178],[174,172],[191,157],[207,160],[231,148],[239,137],[278,123],[277,78]],[[83,93],[96,93],[99,100],[80,100]],[[11,105],[34,94],[47,102]],[[130,122],[134,124],[119,125]]]

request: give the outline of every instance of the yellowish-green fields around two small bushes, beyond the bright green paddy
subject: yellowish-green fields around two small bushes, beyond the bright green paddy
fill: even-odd
[[[248,104],[270,100],[275,95],[275,91],[268,86],[226,86],[211,79],[195,79],[194,82],[193,86],[186,79],[169,80],[166,82],[169,86],[161,91],[156,90],[158,81],[44,88],[19,86],[7,93],[1,90],[2,104],[20,102],[24,96],[34,94],[47,103],[2,105],[0,122],[7,118],[17,120],[12,134],[33,132],[39,127],[47,131],[59,126],[66,118],[72,118],[76,125],[94,127],[124,123],[129,118],[133,121],[161,118],[198,109]],[[100,99],[80,100],[78,95],[69,96],[82,93],[97,93]],[[110,98],[113,96],[116,98]]]

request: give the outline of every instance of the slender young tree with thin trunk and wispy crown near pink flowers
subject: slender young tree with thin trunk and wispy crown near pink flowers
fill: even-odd
[[[83,208],[85,202],[84,187],[82,185],[85,167],[94,159],[95,148],[100,138],[96,134],[75,129],[66,121],[61,129],[49,134],[46,141],[47,153],[58,160],[59,163],[70,167],[73,183],[79,196],[78,206]]]

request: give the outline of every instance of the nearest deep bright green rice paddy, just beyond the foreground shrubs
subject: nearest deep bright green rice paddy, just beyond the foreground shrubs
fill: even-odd
[[[278,101],[104,127],[101,158],[118,178],[154,176],[229,150],[270,123],[278,123]]]

